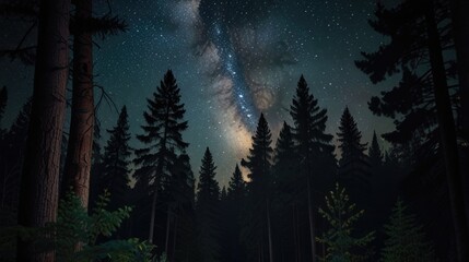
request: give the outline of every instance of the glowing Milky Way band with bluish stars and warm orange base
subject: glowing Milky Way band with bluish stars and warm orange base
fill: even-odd
[[[191,38],[208,93],[221,110],[214,117],[239,158],[251,145],[260,112],[278,119],[271,109],[280,103],[277,93],[285,66],[294,63],[286,43],[275,39],[269,23],[272,7],[270,1],[183,0],[174,11],[185,17],[177,23]],[[280,119],[270,126],[278,133]]]

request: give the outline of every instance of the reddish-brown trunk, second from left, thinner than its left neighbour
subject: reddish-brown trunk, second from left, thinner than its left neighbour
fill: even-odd
[[[94,132],[93,41],[84,22],[91,19],[92,0],[73,0],[77,28],[73,37],[73,91],[63,191],[71,186],[87,207]]]

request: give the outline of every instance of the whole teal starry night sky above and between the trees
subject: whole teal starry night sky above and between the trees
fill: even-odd
[[[394,5],[396,1],[384,2]],[[345,106],[366,142],[373,130],[380,134],[392,129],[389,120],[373,116],[366,103],[395,82],[373,85],[354,66],[361,51],[374,51],[388,40],[367,24],[374,0],[110,2],[113,14],[125,19],[129,28],[104,40],[96,37],[95,82],[118,108],[127,105],[134,136],[141,133],[145,98],[172,69],[187,110],[189,129],[184,139],[190,143],[195,174],[209,146],[218,180],[226,184],[236,163],[247,154],[260,112],[277,140],[283,121],[292,123],[289,108],[301,74],[328,110],[329,133],[337,133]],[[95,4],[96,15],[109,11],[106,1]],[[0,47],[14,47],[19,39],[14,32],[24,26],[17,21],[2,23],[14,29],[3,32]],[[5,59],[0,68],[0,85],[9,88],[10,96],[5,126],[32,94],[34,69]],[[97,90],[96,97],[99,94]],[[103,103],[97,117],[105,130],[115,124],[118,112]],[[107,139],[105,132],[103,136]],[[131,143],[140,146],[136,139]]]

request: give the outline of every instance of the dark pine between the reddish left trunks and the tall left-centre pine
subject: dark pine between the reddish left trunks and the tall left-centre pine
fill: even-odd
[[[129,120],[124,106],[119,119],[112,130],[107,130],[109,140],[104,147],[103,174],[101,186],[110,192],[110,207],[121,206],[129,189],[130,155]]]

